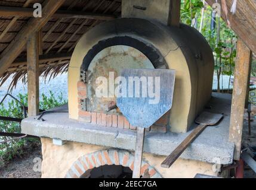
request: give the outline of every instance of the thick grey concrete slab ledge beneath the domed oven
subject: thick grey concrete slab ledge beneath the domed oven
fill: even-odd
[[[234,144],[229,143],[231,96],[213,93],[208,112],[223,113],[224,118],[216,126],[208,126],[205,131],[181,154],[181,158],[199,160],[208,163],[231,164],[233,162]],[[62,106],[56,111],[63,112]],[[38,120],[34,117],[23,119],[21,132],[38,137],[58,138],[63,141],[76,141],[103,145],[105,147],[134,150],[135,131],[120,128],[107,128],[98,125],[84,124],[69,119],[68,113],[47,113]],[[194,124],[192,129],[196,126]],[[168,132],[146,132],[144,151],[147,153],[168,156],[192,130],[184,134]]]

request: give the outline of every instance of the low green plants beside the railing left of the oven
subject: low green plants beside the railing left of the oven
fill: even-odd
[[[27,106],[27,94],[18,94],[18,100]],[[67,103],[64,100],[63,95],[60,94],[57,98],[54,97],[54,93],[50,91],[50,96],[45,96],[42,94],[42,100],[39,102],[40,109],[47,110],[56,106],[63,105]],[[0,106],[0,115],[12,118],[24,118],[23,109],[21,105],[15,100],[8,102],[8,106]],[[0,121],[0,131],[1,132],[17,132],[20,133],[20,124],[17,122]],[[0,141],[11,140],[10,137],[0,137]],[[9,162],[16,156],[21,156],[24,154],[24,148],[26,145],[37,144],[38,140],[35,139],[20,139],[14,141],[8,141],[8,143],[0,144],[0,167],[4,166],[5,163]]]

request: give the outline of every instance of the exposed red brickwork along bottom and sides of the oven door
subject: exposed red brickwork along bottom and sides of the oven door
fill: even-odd
[[[113,115],[107,113],[88,112],[86,109],[82,109],[82,105],[85,104],[87,99],[87,86],[84,82],[78,82],[78,108],[79,108],[79,121],[87,122],[91,124],[97,124],[106,127],[115,127],[123,129],[135,130],[136,127],[129,124],[127,119],[123,115]],[[165,113],[162,118],[155,122],[150,127],[150,131],[167,132],[169,124],[169,112]]]

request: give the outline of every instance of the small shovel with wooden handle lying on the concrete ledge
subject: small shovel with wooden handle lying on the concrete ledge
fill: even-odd
[[[183,142],[175,148],[172,153],[166,157],[164,162],[162,162],[161,166],[169,168],[171,165],[180,157],[184,150],[198,137],[198,135],[203,132],[203,130],[209,125],[216,125],[221,118],[223,118],[222,114],[203,112],[201,115],[196,118],[196,124],[199,124],[190,134],[187,136]]]

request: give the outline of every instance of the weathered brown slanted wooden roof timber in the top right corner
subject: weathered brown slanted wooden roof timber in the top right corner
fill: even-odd
[[[205,0],[211,7],[214,4],[215,0]],[[221,0],[222,1],[222,0]],[[217,2],[221,5],[221,1]],[[230,13],[230,7],[232,5],[232,0],[226,0],[227,4],[227,19],[230,22],[230,27],[235,33],[243,40],[246,46],[256,53],[256,1],[255,0],[246,0],[246,1],[237,1],[236,13],[232,15]],[[226,15],[221,9],[221,17],[226,21]]]

